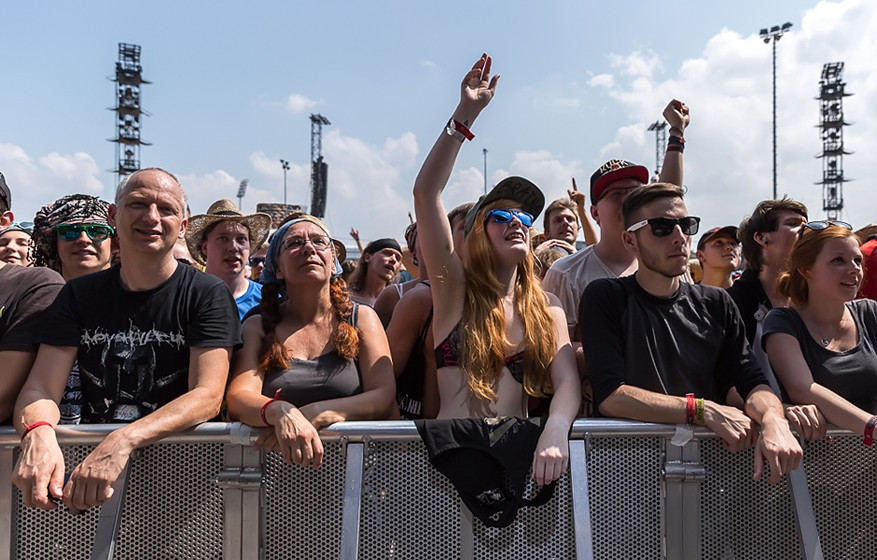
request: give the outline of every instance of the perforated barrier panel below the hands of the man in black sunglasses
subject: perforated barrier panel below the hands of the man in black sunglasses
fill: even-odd
[[[802,558],[788,478],[774,485],[753,481],[754,451],[730,453],[717,438],[704,440],[701,453],[703,558]]]

